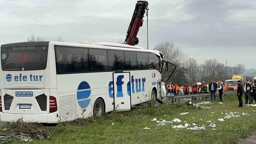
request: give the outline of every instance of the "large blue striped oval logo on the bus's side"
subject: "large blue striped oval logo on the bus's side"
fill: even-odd
[[[76,92],[76,98],[78,101],[78,104],[81,108],[86,108],[87,106],[89,106],[91,98],[91,88],[90,85],[83,81],[79,84],[78,86],[78,91]]]

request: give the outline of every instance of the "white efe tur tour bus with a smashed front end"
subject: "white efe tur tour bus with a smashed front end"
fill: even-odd
[[[130,110],[151,97],[166,96],[161,72],[164,64],[165,72],[171,63],[163,60],[161,52],[85,43],[0,45],[0,120],[65,122]]]

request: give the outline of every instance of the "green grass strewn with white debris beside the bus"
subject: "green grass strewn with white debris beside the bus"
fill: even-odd
[[[244,97],[243,97],[244,99]],[[155,107],[143,107],[132,109],[128,112],[105,114],[103,117],[78,119],[75,122],[61,123],[56,134],[50,141],[33,140],[30,144],[233,144],[238,138],[244,138],[250,134],[255,127],[256,110],[253,106],[237,108],[236,96],[226,96],[224,104],[217,101],[205,106],[212,109],[192,108],[184,104],[162,104]],[[204,106],[204,105],[201,105]],[[227,111],[225,111],[227,110]],[[186,115],[179,115],[189,112]],[[206,112],[202,114],[200,112]],[[212,113],[214,112],[214,113]],[[239,118],[225,119],[219,122],[218,118],[224,118],[225,113],[238,112]],[[242,112],[248,112],[251,116],[242,116]],[[220,114],[224,113],[224,114]],[[166,116],[164,116],[166,115]],[[213,115],[213,116],[210,116]],[[193,119],[194,117],[194,119]],[[165,126],[157,126],[151,120],[172,120],[180,118],[182,122],[174,122]],[[202,119],[202,120],[200,120]],[[211,130],[211,120],[216,122],[216,129]],[[175,130],[171,125],[184,126],[185,122],[206,126],[206,130]],[[112,123],[115,123],[112,125]],[[80,125],[80,126],[79,126]],[[10,126],[9,126],[10,127]],[[151,128],[144,130],[145,127]],[[48,132],[48,135],[50,133]],[[20,141],[12,141],[20,143]]]

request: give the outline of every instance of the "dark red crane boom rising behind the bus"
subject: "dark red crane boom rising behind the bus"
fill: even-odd
[[[130,22],[130,25],[126,34],[126,39],[124,41],[125,44],[134,46],[139,43],[137,34],[139,31],[139,28],[143,24],[142,19],[144,17],[146,10],[148,10],[148,2],[142,1],[142,0],[137,1],[137,4],[135,6],[135,9],[132,15],[132,20]]]

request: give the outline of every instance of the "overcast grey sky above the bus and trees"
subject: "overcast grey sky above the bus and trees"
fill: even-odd
[[[78,43],[125,39],[137,0],[0,0],[0,44],[31,33]],[[149,49],[170,40],[196,58],[256,68],[256,0],[148,0]],[[146,16],[146,14],[145,14]],[[138,32],[146,48],[146,17]]]

